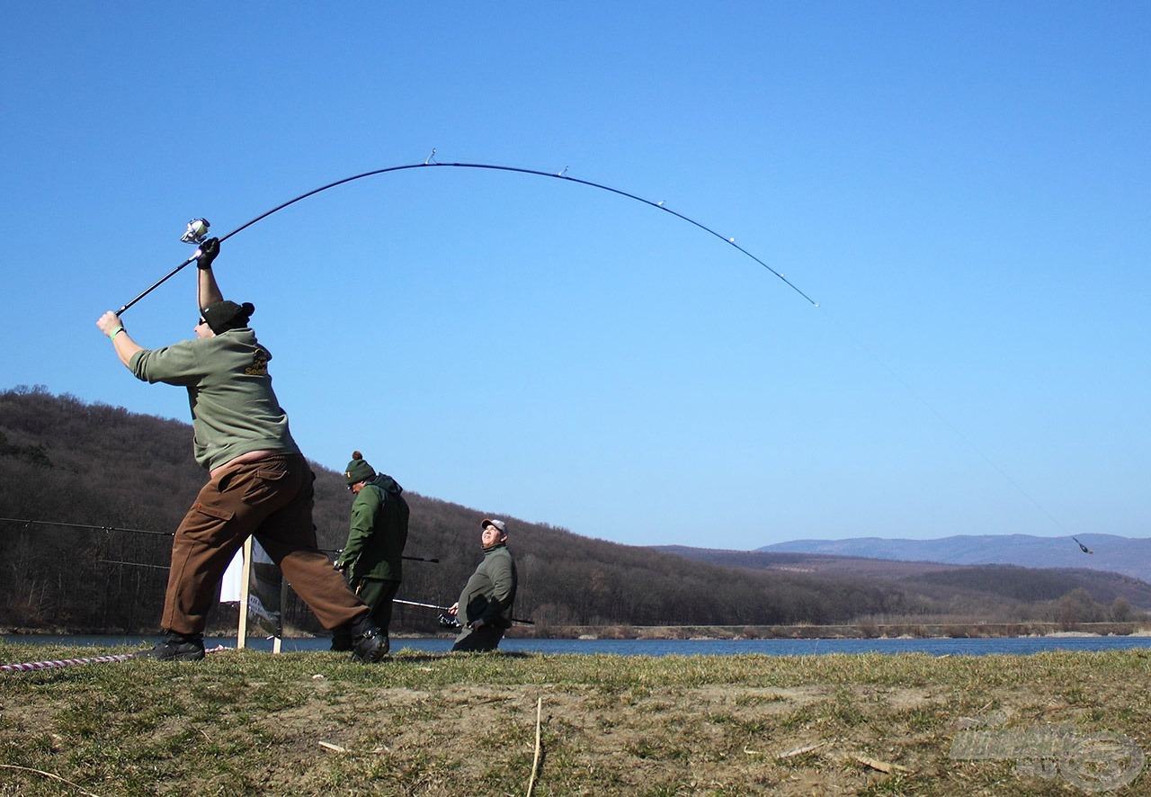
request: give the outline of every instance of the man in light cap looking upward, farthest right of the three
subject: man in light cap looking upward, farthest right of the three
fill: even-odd
[[[516,600],[516,562],[508,551],[508,525],[483,518],[480,544],[483,561],[467,579],[459,600],[448,614],[463,620],[464,630],[452,651],[494,651],[511,628],[511,605]],[[459,615],[463,614],[463,617]]]

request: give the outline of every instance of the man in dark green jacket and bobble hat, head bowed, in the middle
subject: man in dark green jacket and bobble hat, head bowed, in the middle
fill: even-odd
[[[356,499],[348,541],[336,560],[336,570],[344,572],[348,584],[372,609],[372,620],[387,650],[391,599],[403,580],[407,502],[404,488],[387,473],[376,473],[359,451],[352,451],[344,478]],[[352,650],[352,639],[345,629],[337,628],[333,632],[331,650]]]

